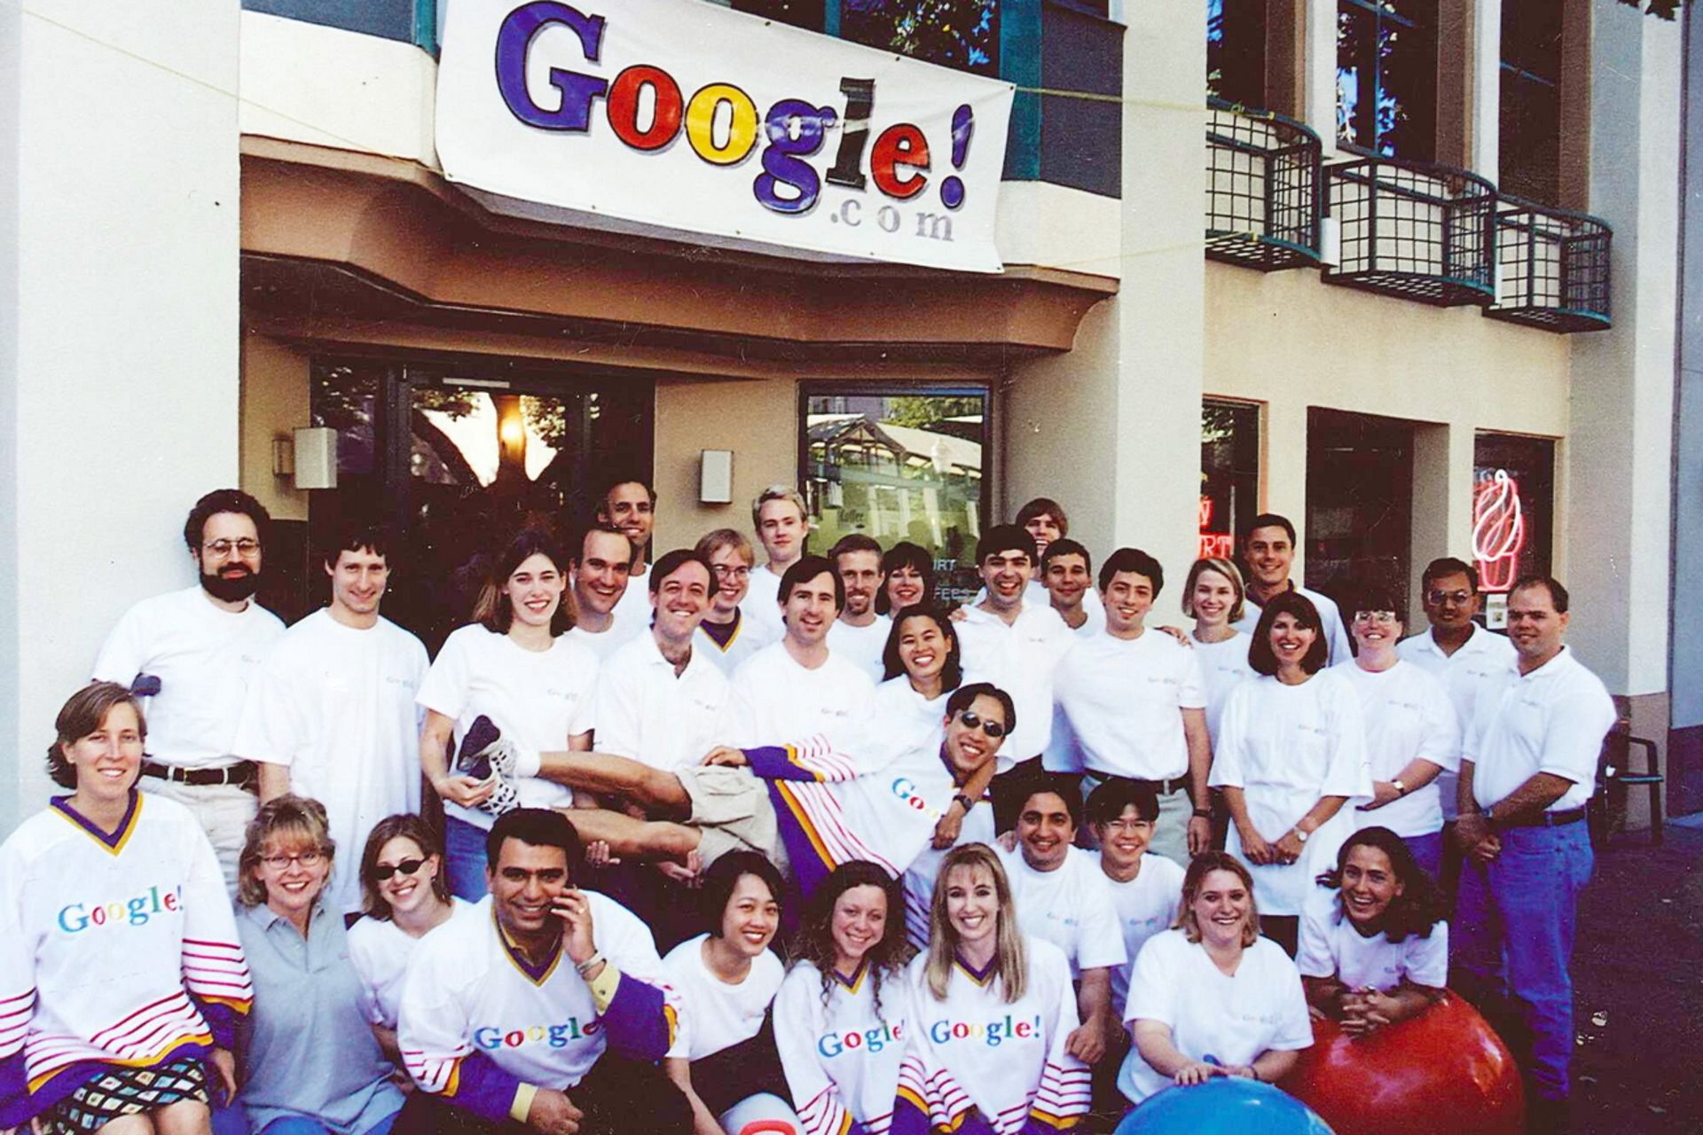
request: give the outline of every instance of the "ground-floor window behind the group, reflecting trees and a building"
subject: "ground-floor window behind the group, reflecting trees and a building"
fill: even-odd
[[[981,585],[976,541],[988,509],[984,386],[809,385],[799,478],[812,551],[848,533],[935,556],[935,596],[964,602]]]

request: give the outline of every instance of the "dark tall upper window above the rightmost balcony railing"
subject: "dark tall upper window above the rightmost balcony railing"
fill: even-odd
[[[1562,158],[1562,5],[1502,0],[1504,191],[1555,204]]]

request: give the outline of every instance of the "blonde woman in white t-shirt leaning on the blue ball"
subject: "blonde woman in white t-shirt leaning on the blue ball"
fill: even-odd
[[[1124,1024],[1132,1048],[1117,1087],[1138,1104],[1167,1084],[1214,1075],[1270,1084],[1313,1043],[1301,973],[1260,938],[1253,876],[1240,859],[1202,851],[1189,863],[1175,927],[1136,956]]]

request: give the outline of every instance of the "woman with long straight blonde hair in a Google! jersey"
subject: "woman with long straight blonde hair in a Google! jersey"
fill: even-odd
[[[947,853],[928,953],[906,972],[911,1048],[892,1133],[1054,1132],[1088,1111],[1088,1065],[1066,1052],[1076,1016],[1069,961],[1024,939],[1005,868],[986,844]]]

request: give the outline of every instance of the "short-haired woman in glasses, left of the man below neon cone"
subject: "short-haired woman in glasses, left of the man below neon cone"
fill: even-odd
[[[1442,870],[1437,776],[1459,771],[1461,730],[1442,682],[1396,653],[1402,623],[1393,594],[1362,592],[1349,623],[1354,659],[1332,669],[1361,696],[1373,766],[1373,798],[1354,808],[1354,825],[1388,827],[1436,878]]]

